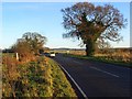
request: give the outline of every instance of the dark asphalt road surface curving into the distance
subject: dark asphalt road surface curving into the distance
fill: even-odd
[[[87,97],[131,97],[132,69],[57,54],[54,58]]]

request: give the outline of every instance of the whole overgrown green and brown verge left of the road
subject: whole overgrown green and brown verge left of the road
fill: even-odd
[[[51,58],[41,56],[18,63],[13,55],[3,56],[2,97],[76,97],[62,69]]]

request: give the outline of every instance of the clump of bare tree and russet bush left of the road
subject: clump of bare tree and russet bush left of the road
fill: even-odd
[[[29,61],[35,55],[40,54],[46,43],[46,37],[36,32],[28,32],[18,38],[16,43],[12,46],[12,50],[19,53],[21,61]]]

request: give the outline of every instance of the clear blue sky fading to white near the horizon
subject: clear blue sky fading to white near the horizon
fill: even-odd
[[[37,32],[47,37],[46,47],[80,48],[80,41],[63,38],[62,9],[76,2],[2,2],[2,33],[0,48],[9,48],[26,32]],[[94,2],[96,6],[108,2]],[[130,47],[130,3],[112,2],[128,19],[128,26],[120,31],[123,41],[111,43],[113,47]]]

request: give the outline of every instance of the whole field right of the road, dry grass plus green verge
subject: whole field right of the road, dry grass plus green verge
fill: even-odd
[[[103,50],[103,51],[96,51],[94,57],[87,57],[85,50],[70,50],[68,53],[65,54],[87,58],[92,61],[101,61],[121,65],[130,65],[132,64],[132,55],[130,50]]]

